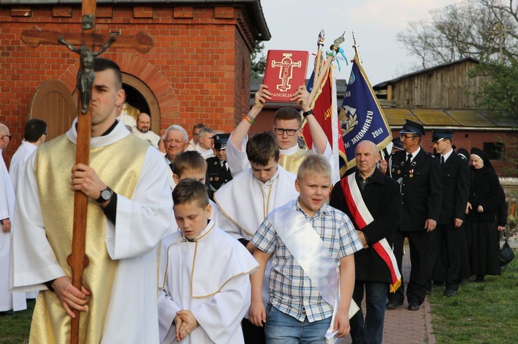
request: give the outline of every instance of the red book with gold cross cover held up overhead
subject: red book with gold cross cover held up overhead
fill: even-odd
[[[308,52],[299,50],[268,50],[265,85],[273,93],[271,101],[289,103],[291,94],[305,85]]]

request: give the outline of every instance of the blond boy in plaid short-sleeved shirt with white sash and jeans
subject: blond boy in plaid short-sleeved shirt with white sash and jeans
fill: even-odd
[[[353,254],[363,245],[347,215],[325,204],[331,185],[329,162],[307,156],[295,181],[298,198],[268,214],[251,239],[260,268],[251,276],[249,318],[265,323],[267,343],[326,343],[327,333],[349,334]],[[265,310],[261,285],[270,258]]]

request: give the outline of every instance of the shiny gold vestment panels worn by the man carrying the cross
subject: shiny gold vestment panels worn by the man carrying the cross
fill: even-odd
[[[111,145],[90,149],[90,166],[100,179],[117,194],[133,196],[149,145],[135,135],[128,135]],[[70,188],[70,171],[75,165],[76,145],[61,135],[41,145],[35,161],[39,204],[48,242],[59,265],[71,276],[66,257],[71,252],[74,192]],[[79,343],[99,343],[110,305],[117,261],[106,250],[106,216],[93,199],[88,200],[86,219],[86,255],[90,264],[84,270],[83,285],[92,293],[88,311],[81,312]],[[70,342],[70,316],[55,293],[45,290],[32,315],[30,343]]]

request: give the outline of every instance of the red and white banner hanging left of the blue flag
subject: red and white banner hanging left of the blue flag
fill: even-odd
[[[311,74],[307,83],[307,91],[311,93],[313,90],[314,73]],[[333,161],[336,171],[333,171],[332,177],[333,182],[340,179],[339,175],[339,159],[345,161],[345,149],[343,141],[340,135],[340,122],[338,121],[338,105],[336,104],[336,78],[333,75],[333,68],[329,68],[329,72],[320,83],[320,87],[316,92],[316,96],[313,102],[309,105],[314,110],[314,117],[320,124],[320,127],[324,130],[327,141],[331,145],[333,150]],[[313,145],[313,139],[311,139],[311,133],[309,127],[304,125],[303,128],[304,141],[307,147],[311,149]]]

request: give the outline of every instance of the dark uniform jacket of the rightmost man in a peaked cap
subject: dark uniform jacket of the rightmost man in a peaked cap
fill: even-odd
[[[441,154],[437,154],[441,159]],[[438,225],[452,225],[454,219],[464,219],[470,193],[470,166],[456,152],[441,164],[443,201]]]

